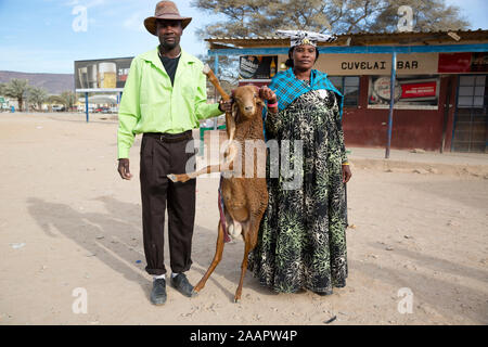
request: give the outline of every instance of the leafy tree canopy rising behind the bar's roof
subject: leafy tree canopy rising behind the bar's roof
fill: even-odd
[[[194,0],[194,7],[224,20],[198,30],[205,37],[256,37],[277,29],[318,33],[394,33],[400,5],[413,10],[414,31],[465,29],[460,9],[445,0]]]

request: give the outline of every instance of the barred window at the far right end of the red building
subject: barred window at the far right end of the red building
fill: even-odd
[[[458,107],[483,108],[485,105],[486,76],[460,76]]]

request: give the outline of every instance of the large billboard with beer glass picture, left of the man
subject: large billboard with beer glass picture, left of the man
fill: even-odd
[[[84,91],[121,91],[132,57],[75,62],[75,89]]]

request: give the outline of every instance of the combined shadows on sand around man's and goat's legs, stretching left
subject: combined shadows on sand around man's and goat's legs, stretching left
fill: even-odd
[[[103,203],[107,213],[82,211],[66,204],[51,203],[38,197],[29,197],[27,206],[29,214],[47,235],[56,237],[61,233],[73,240],[78,246],[87,250],[87,256],[95,256],[114,271],[121,273],[127,280],[140,284],[149,299],[152,283],[144,270],[141,206],[120,202],[112,196],[100,196],[93,201]],[[202,277],[214,258],[216,241],[217,230],[211,231],[195,226],[192,270],[198,272]],[[167,243],[167,233],[165,242]],[[222,275],[230,282],[235,283],[236,288],[243,256],[244,244],[242,242],[226,244],[222,260],[209,278],[207,286],[213,281],[230,300],[233,300],[234,292],[218,283],[215,274]],[[167,252],[165,259],[169,272]],[[243,297],[246,295],[246,287],[253,288],[261,295],[275,295],[272,291],[262,287],[253,278],[251,271],[247,271],[244,279]],[[205,288],[201,293],[204,292]]]

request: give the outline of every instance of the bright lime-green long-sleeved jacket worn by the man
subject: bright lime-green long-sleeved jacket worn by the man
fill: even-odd
[[[179,133],[216,117],[218,104],[207,104],[203,63],[181,51],[175,86],[158,55],[158,48],[136,56],[130,65],[118,111],[118,158],[128,158],[134,136],[142,132]]]

